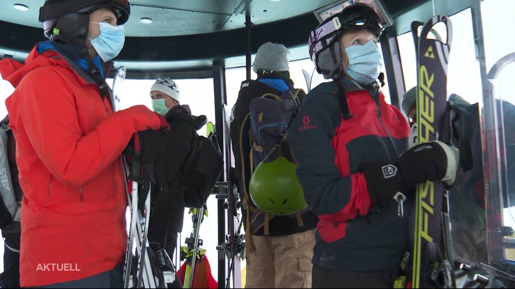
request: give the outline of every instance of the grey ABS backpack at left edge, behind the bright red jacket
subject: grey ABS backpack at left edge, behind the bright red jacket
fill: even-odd
[[[0,229],[8,227],[12,221],[20,222],[21,218],[21,201],[16,200],[8,157],[8,147],[15,146],[15,142],[6,119],[0,123]]]

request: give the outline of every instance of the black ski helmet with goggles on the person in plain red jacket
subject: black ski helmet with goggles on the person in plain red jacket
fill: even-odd
[[[77,46],[88,36],[89,14],[100,8],[113,11],[118,25],[129,19],[128,0],[46,0],[39,21],[48,39]]]

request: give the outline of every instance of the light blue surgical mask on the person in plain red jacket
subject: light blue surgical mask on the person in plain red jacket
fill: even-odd
[[[90,21],[91,22],[91,21]],[[106,22],[91,22],[100,26],[100,35],[97,38],[88,40],[104,62],[118,56],[125,43],[125,32],[123,26],[113,26]]]

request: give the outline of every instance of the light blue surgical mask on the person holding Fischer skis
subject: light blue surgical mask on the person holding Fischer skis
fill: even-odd
[[[371,83],[381,73],[381,53],[377,45],[370,40],[365,45],[353,45],[345,48],[349,58],[347,75],[359,83]]]

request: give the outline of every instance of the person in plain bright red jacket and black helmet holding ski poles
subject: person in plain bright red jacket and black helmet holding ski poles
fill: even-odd
[[[124,44],[125,0],[46,0],[45,35],[25,64],[4,59],[23,198],[22,287],[121,287],[127,247],[121,154],[163,119],[143,105],[113,113],[105,82]]]

